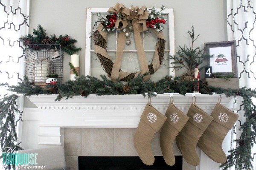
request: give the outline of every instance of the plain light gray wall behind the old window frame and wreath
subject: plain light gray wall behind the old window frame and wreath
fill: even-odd
[[[178,46],[191,45],[187,31],[192,26],[195,34],[200,34],[194,47],[204,47],[204,42],[217,42],[227,40],[226,0],[31,0],[29,16],[29,33],[39,24],[47,30],[48,35],[68,34],[78,42],[75,44],[82,50],[80,56],[80,74],[84,75],[85,65],[85,31],[86,8],[109,8],[115,4],[123,3],[126,7],[147,6],[151,8],[162,5],[173,8],[175,14],[175,51]],[[70,57],[64,56],[64,82],[70,79],[68,62]],[[176,73],[179,76],[181,72]]]

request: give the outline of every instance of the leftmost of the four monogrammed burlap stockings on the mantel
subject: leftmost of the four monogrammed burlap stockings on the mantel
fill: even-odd
[[[134,147],[144,164],[152,165],[154,155],[151,151],[152,139],[163,123],[166,116],[157,111],[152,105],[147,104],[140,116],[140,122],[134,135]]]

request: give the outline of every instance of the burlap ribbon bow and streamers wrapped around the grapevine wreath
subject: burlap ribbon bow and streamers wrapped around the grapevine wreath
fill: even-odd
[[[142,6],[141,8],[139,8],[138,6],[136,7],[131,6],[131,9],[129,9],[129,8],[126,8],[123,4],[116,3],[116,6],[114,8],[111,7],[108,10],[109,13],[116,12],[118,14],[122,14],[122,18],[117,18],[115,22],[115,26],[117,30],[121,30],[128,27],[128,22],[130,22],[130,20],[132,21],[132,26],[134,28],[135,45],[137,48],[137,54],[138,54],[139,63],[140,63],[140,71],[138,71],[135,74],[135,77],[137,77],[139,73],[145,74],[149,72],[146,55],[143,48],[143,43],[140,37],[140,32],[148,30],[146,26],[146,20],[148,19],[148,11],[144,11],[145,8],[146,8],[145,6]],[[120,22],[122,22],[122,25],[121,25],[122,27],[119,26]],[[102,31],[103,28],[104,27],[102,26],[102,24],[99,24],[97,30],[102,35],[102,37],[107,41],[108,33],[106,31]],[[151,30],[158,38],[161,38],[164,40],[164,35],[162,31],[157,32],[154,29],[151,29]],[[122,55],[125,48],[125,40],[126,40],[125,32],[120,31],[119,39],[117,43],[117,49],[116,49],[116,59],[115,59],[115,62],[113,63],[113,68],[111,71],[112,81],[116,81],[116,79],[122,79],[124,77],[127,77],[129,74],[131,74],[124,71],[120,71],[120,67],[122,63]],[[158,48],[158,43],[156,45],[156,51],[152,60],[154,72],[160,68],[160,61],[159,61],[157,48]],[[101,54],[102,56],[110,59],[106,49],[98,45],[94,45],[94,50],[96,53]],[[145,80],[149,78],[150,78],[149,74],[144,77]]]

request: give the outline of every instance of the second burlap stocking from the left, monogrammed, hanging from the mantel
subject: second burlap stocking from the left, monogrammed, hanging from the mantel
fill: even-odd
[[[172,166],[175,164],[175,156],[172,152],[172,145],[177,134],[180,133],[180,130],[189,120],[189,116],[186,116],[172,103],[169,104],[165,116],[167,119],[161,128],[160,147],[166,164]]]

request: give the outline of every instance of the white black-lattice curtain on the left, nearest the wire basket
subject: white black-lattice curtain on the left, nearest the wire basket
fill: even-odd
[[[29,0],[0,0],[0,83],[17,85],[24,81],[25,48],[18,40],[28,34]],[[10,94],[0,87],[0,98]],[[17,99],[19,112],[15,115],[18,142],[21,139],[23,97]]]

